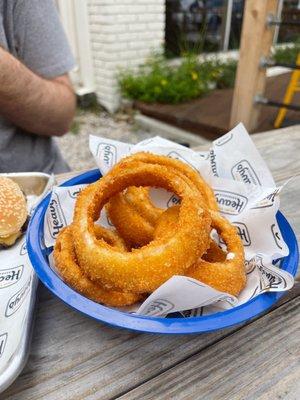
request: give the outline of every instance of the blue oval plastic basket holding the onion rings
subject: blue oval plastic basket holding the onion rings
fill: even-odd
[[[92,170],[70,179],[62,186],[91,183],[100,177],[101,175],[98,170]],[[29,228],[27,229],[27,247],[30,261],[40,280],[52,293],[69,306],[97,321],[105,322],[120,328],[149,333],[187,334],[211,332],[240,324],[265,312],[284,294],[282,292],[261,294],[249,302],[231,310],[194,318],[137,316],[102,306],[77,293],[65,284],[50,268],[47,250],[43,245],[44,216],[49,200],[50,195],[37,206],[31,218]],[[282,260],[281,268],[295,276],[299,259],[296,237],[291,226],[280,212],[277,214],[277,220],[283,238],[290,251],[289,256]]]

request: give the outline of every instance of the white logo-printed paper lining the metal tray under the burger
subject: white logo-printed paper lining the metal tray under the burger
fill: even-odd
[[[37,202],[53,185],[51,177],[41,196],[27,196],[30,215]],[[0,375],[17,353],[27,328],[37,278],[28,258],[25,235],[7,249],[0,250]]]

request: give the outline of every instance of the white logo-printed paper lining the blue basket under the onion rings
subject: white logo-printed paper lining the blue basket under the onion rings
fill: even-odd
[[[244,244],[247,285],[238,298],[195,279],[173,276],[143,304],[126,308],[126,311],[152,316],[180,312],[190,317],[228,309],[260,293],[284,291],[293,286],[293,277],[273,265],[274,260],[288,255],[275,217],[281,187],[276,187],[242,124],[214,141],[208,152],[196,152],[161,137],[130,145],[90,136],[90,150],[103,175],[124,156],[140,151],[166,155],[189,164],[212,186],[222,214],[237,227]],[[52,247],[60,230],[72,222],[76,195],[84,186],[53,189],[44,224],[47,247]],[[163,189],[151,189],[151,197],[162,208],[178,203],[175,195]],[[99,222],[110,226],[104,211]],[[52,259],[50,264],[55,269]]]

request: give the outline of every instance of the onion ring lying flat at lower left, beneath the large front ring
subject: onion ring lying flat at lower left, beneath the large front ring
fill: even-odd
[[[120,245],[122,242],[119,242],[119,238],[113,232],[95,226],[95,233],[98,239],[107,239],[125,250],[122,244]],[[62,279],[76,291],[97,303],[121,307],[134,304],[142,298],[135,293],[106,290],[84,275],[77,263],[74,251],[72,226],[66,227],[59,233],[53,256],[55,267]]]

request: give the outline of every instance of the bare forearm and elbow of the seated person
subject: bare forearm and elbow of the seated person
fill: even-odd
[[[38,135],[61,136],[74,117],[67,75],[44,79],[0,47],[0,115]]]

